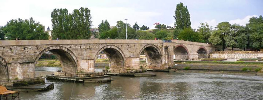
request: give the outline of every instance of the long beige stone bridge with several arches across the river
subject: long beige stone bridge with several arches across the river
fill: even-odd
[[[7,40],[0,41],[0,80],[35,78],[35,65],[47,51],[56,55],[62,72],[94,72],[99,53],[105,53],[111,72],[140,69],[140,54],[147,69],[167,69],[176,60],[205,58],[215,48],[205,43],[172,40]]]

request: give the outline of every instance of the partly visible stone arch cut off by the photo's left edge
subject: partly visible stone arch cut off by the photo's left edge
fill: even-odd
[[[8,75],[8,65],[6,63],[6,60],[0,56],[0,80],[9,79]]]

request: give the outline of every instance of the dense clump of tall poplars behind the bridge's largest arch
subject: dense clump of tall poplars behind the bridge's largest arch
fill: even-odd
[[[51,21],[53,39],[89,39],[91,36],[92,21],[88,8],[74,9],[70,14],[67,9],[54,9]]]

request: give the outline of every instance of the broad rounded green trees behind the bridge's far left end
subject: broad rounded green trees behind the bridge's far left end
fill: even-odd
[[[49,35],[44,31],[44,26],[39,22],[33,20],[32,17],[29,20],[22,20],[20,18],[12,19],[2,28],[1,39],[3,35],[7,40],[38,40],[48,39]]]

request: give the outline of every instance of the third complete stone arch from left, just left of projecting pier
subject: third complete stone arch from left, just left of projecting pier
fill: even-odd
[[[145,53],[147,65],[160,66],[162,64],[161,51],[154,44],[147,44],[143,46],[138,55],[140,56],[142,52]]]

